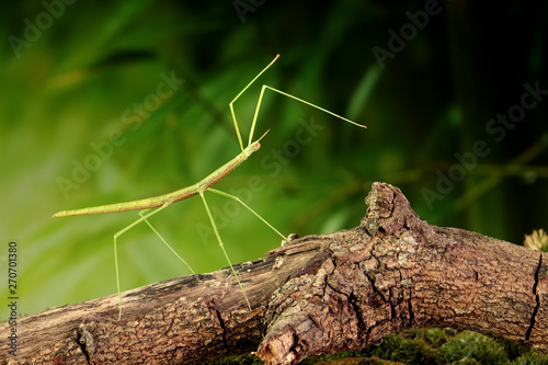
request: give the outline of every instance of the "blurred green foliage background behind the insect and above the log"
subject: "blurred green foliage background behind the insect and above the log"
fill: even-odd
[[[116,292],[112,237],[136,212],[52,214],[168,193],[220,167],[239,152],[228,103],[276,54],[281,59],[236,103],[244,138],[262,83],[368,127],[266,92],[255,132],[271,129],[262,149],[216,187],[240,194],[285,235],[359,225],[374,181],[399,186],[434,225],[515,243],[548,228],[548,100],[503,138],[486,129],[521,103],[524,83],[548,89],[547,3],[444,1],[422,30],[411,25],[431,4],[4,4],[0,264],[5,273],[8,242],[18,242],[20,312]],[[389,30],[400,33],[406,24],[409,39],[380,65],[374,49],[389,52]],[[171,76],[184,82],[168,92],[161,82]],[[310,121],[323,128],[305,133]],[[298,144],[298,136],[310,138]],[[458,170],[455,153],[469,156],[478,140],[490,153]],[[93,169],[76,181],[75,167],[85,163]],[[425,197],[450,171],[466,173]],[[221,212],[220,235],[235,263],[279,244],[251,214],[212,194],[209,202]],[[196,272],[226,266],[199,198],[152,223]],[[189,274],[144,225],[122,236],[118,254],[123,289]]]

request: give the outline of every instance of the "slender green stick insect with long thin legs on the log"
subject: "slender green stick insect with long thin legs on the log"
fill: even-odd
[[[270,129],[266,130],[255,141],[253,141],[253,133],[254,133],[254,129],[255,129],[255,123],[256,123],[256,118],[259,116],[259,110],[261,109],[261,102],[262,102],[263,94],[264,94],[265,90],[274,91],[274,92],[279,93],[279,94],[284,95],[284,96],[287,96],[287,98],[294,99],[294,100],[296,100],[298,102],[301,102],[301,103],[304,103],[306,105],[316,107],[317,110],[320,110],[320,111],[322,111],[324,113],[328,113],[328,114],[330,114],[332,116],[335,116],[335,117],[338,117],[340,119],[343,119],[343,121],[345,121],[347,123],[351,123],[351,124],[353,124],[355,126],[366,128],[364,125],[361,125],[361,124],[357,124],[357,123],[355,123],[353,121],[344,118],[344,117],[342,117],[342,116],[340,116],[340,115],[338,115],[335,113],[332,113],[332,112],[330,112],[330,111],[328,111],[328,110],[326,110],[323,107],[315,105],[315,104],[312,104],[310,102],[307,102],[307,101],[305,101],[302,99],[299,99],[297,96],[294,96],[294,95],[288,94],[286,92],[283,92],[281,90],[274,89],[274,88],[272,88],[270,85],[263,84],[263,87],[261,89],[261,93],[259,94],[259,101],[258,101],[256,106],[255,106],[255,112],[254,112],[254,115],[253,115],[253,121],[251,123],[251,130],[250,130],[250,134],[249,134],[248,146],[244,148],[243,147],[243,142],[242,142],[242,137],[241,137],[241,134],[240,134],[240,128],[238,126],[238,122],[237,122],[237,118],[236,118],[233,103],[246,92],[246,90],[249,89],[249,87],[251,87],[251,84],[253,84],[253,82],[259,77],[261,77],[261,75],[263,75],[263,72],[265,72],[278,59],[278,57],[279,57],[279,55],[276,55],[276,57],[274,57],[274,59],[261,72],[259,72],[240,91],[240,93],[238,93],[238,95],[236,95],[236,98],[228,104],[229,109],[230,109],[230,114],[232,116],[232,122],[233,122],[233,125],[235,125],[236,135],[238,137],[238,142],[240,144],[240,148],[241,148],[241,152],[238,156],[236,156],[233,159],[231,159],[230,161],[228,161],[227,163],[225,163],[224,166],[221,166],[220,168],[218,168],[217,170],[215,170],[214,172],[212,172],[209,175],[207,175],[206,178],[204,178],[202,181],[199,181],[199,182],[197,182],[197,183],[195,183],[193,185],[183,187],[181,190],[174,191],[172,193],[163,194],[163,195],[156,196],[156,197],[147,197],[147,198],[139,199],[139,201],[132,201],[132,202],[126,202],[126,203],[116,203],[116,204],[109,204],[109,205],[101,205],[101,206],[82,208],[82,209],[75,209],[75,210],[62,210],[62,212],[54,214],[54,217],[68,217],[68,216],[107,214],[107,213],[119,213],[119,212],[126,212],[126,210],[144,209],[144,210],[141,210],[139,213],[139,215],[140,215],[139,219],[137,219],[136,221],[132,223],[129,226],[125,227],[124,229],[122,229],[121,231],[118,231],[116,235],[114,235],[114,265],[115,265],[115,271],[116,271],[116,288],[117,288],[117,294],[118,294],[118,307],[119,307],[118,319],[122,318],[122,292],[121,292],[121,288],[119,288],[118,256],[117,256],[117,249],[116,249],[118,237],[122,236],[123,233],[125,233],[126,231],[128,231],[129,229],[132,229],[133,227],[135,227],[136,225],[138,225],[139,223],[145,221],[150,227],[150,229],[152,229],[152,231],[160,238],[160,240],[194,274],[194,271],[186,263],[186,261],[184,261],[175,252],[175,250],[162,238],[162,236],[155,229],[155,227],[148,220],[148,218],[150,218],[153,215],[156,215],[157,213],[165,209],[171,204],[180,202],[180,201],[183,201],[183,199],[186,199],[186,198],[189,198],[191,196],[194,196],[194,195],[199,195],[199,197],[202,198],[202,201],[204,203],[204,207],[206,209],[207,216],[209,217],[209,221],[212,224],[212,227],[214,229],[214,232],[215,232],[217,241],[218,241],[218,243],[220,246],[220,249],[222,250],[222,253],[225,254],[225,258],[226,258],[226,260],[227,260],[227,262],[228,262],[228,264],[230,266],[230,270],[232,271],[232,274],[235,275],[235,278],[238,282],[238,285],[239,285],[239,287],[240,287],[240,289],[241,289],[241,292],[243,294],[243,297],[246,299],[248,308],[251,310],[251,304],[250,304],[250,301],[248,299],[246,290],[243,289],[243,285],[241,284],[240,278],[238,277],[238,274],[236,273],[236,271],[235,271],[235,269],[232,266],[230,258],[228,256],[228,253],[225,250],[225,244],[222,243],[222,240],[221,240],[221,238],[219,236],[219,231],[218,231],[217,226],[215,224],[215,220],[213,218],[212,212],[209,210],[209,206],[207,204],[207,201],[205,198],[204,193],[207,191],[207,192],[212,192],[212,193],[219,194],[219,195],[222,195],[225,197],[235,199],[236,202],[238,202],[239,204],[241,204],[244,208],[247,208],[249,212],[251,212],[253,215],[255,215],[266,226],[269,226],[271,229],[273,229],[279,237],[282,237],[284,240],[287,240],[284,235],[282,235],[277,229],[275,229],[271,224],[269,224],[263,217],[261,217],[250,206],[248,206],[246,203],[243,203],[239,197],[212,187],[213,185],[215,185],[216,183],[218,183],[220,180],[222,180],[225,176],[227,176],[230,172],[232,172],[236,168],[238,168],[253,152],[256,152],[259,150],[259,148],[261,148],[260,140],[262,138],[264,138],[264,136],[269,133]]]

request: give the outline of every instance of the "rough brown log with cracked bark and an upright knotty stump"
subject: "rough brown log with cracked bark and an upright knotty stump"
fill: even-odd
[[[1,364],[180,364],[256,351],[267,364],[352,351],[411,327],[450,327],[548,354],[548,256],[430,226],[374,183],[359,227],[292,240],[228,270],[20,318]]]

